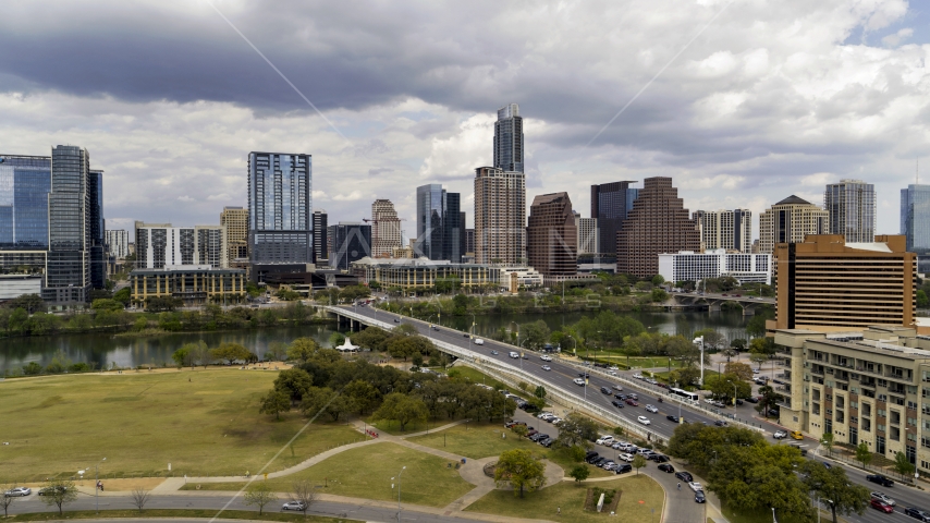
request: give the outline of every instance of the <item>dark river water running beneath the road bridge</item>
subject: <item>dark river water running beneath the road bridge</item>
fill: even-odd
[[[512,323],[526,324],[542,319],[552,330],[561,329],[578,321],[586,313],[567,314],[501,314],[495,316],[476,316],[477,336],[489,337],[500,327]],[[746,321],[739,312],[706,313],[625,313],[634,317],[652,332],[692,336],[696,330],[712,328],[727,340],[747,338]],[[437,318],[431,318],[436,321]],[[440,324],[466,331],[472,316],[443,316]],[[310,337],[318,342],[328,343],[334,324],[306,325],[299,327],[278,327],[264,329],[233,330],[224,332],[179,332],[161,336],[113,336],[113,335],[58,335],[51,337],[10,338],[0,340],[0,376],[7,370],[20,368],[29,362],[42,366],[50,363],[52,356],[63,351],[74,362],[96,363],[97,367],[115,363],[120,367],[136,365],[161,366],[171,363],[171,353],[185,343],[204,340],[208,346],[223,342],[240,343],[256,354],[264,354],[269,343],[281,341],[290,343],[295,338]]]

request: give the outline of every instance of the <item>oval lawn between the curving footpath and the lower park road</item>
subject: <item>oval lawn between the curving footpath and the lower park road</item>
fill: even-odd
[[[309,479],[323,487],[322,494],[353,498],[396,501],[396,477],[404,471],[401,499],[405,503],[427,507],[445,507],[475,488],[462,479],[458,471],[448,466],[449,460],[419,452],[396,443],[378,443],[358,447],[333,455],[304,471],[285,477],[268,479],[271,489],[286,492],[295,481]],[[392,488],[391,484],[395,484]],[[244,483],[207,483],[201,490],[238,490]],[[193,490],[196,485],[185,485]]]

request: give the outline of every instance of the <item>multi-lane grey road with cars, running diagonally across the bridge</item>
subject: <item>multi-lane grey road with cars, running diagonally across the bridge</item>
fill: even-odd
[[[659,403],[658,398],[664,393],[664,389],[650,386],[645,381],[637,381],[637,384],[641,385],[638,385],[635,390],[631,390],[631,388],[626,385],[623,386],[624,393],[634,391],[639,396],[639,406],[634,408],[625,405],[623,409],[616,409],[611,404],[613,396],[600,392],[601,387],[612,388],[614,385],[616,385],[616,380],[611,381],[608,377],[602,377],[598,374],[591,373],[588,386],[579,387],[572,381],[578,377],[578,372],[576,370],[576,367],[560,362],[558,357],[553,357],[552,362],[544,362],[540,360],[539,353],[524,350],[527,357],[514,360],[509,356],[509,353],[511,351],[516,350],[514,345],[488,339],[484,340],[484,345],[476,345],[465,332],[452,330],[445,327],[439,327],[439,330],[433,330],[430,329],[428,323],[411,319],[406,316],[400,316],[380,309],[375,309],[370,306],[345,306],[342,308],[345,308],[346,311],[352,311],[356,314],[363,315],[371,319],[378,319],[380,321],[386,321],[389,324],[395,323],[394,320],[396,320],[397,323],[409,324],[414,326],[420,335],[430,339],[442,340],[446,343],[452,343],[461,349],[473,351],[476,355],[480,355],[481,358],[497,360],[501,363],[507,363],[514,366],[519,366],[524,372],[527,372],[538,378],[540,384],[543,385],[543,387],[556,387],[562,391],[573,394],[579,398],[582,401],[586,401],[592,405],[598,405],[603,409],[612,409],[616,411],[620,416],[623,416],[632,421],[633,423],[637,423],[638,416],[646,416],[647,418],[649,418],[650,424],[648,426],[644,426],[644,428],[651,433],[656,433],[657,435],[661,436],[666,440],[672,436],[676,424],[666,419],[665,416],[670,414],[678,415],[680,409],[681,415],[688,423],[713,424],[713,422],[715,421],[715,418],[708,416],[699,411],[689,409],[687,406],[680,408],[677,404],[672,405],[671,403]],[[492,351],[497,351],[498,354],[492,354]],[[551,370],[543,370],[542,365],[549,365],[551,367]],[[634,372],[628,372],[624,374],[627,378],[632,379],[632,375],[634,374]],[[645,405],[647,404],[658,406],[659,412],[656,414],[650,414],[646,412]],[[752,419],[752,406],[754,405],[746,403],[742,406],[727,408],[724,410],[724,412],[734,413],[737,417],[741,417],[743,419]],[[755,419],[755,422],[766,430],[766,436],[769,438],[771,438],[772,433],[781,428],[772,423],[762,422],[759,419]],[[818,447],[818,442],[816,440],[806,438],[801,442],[801,446],[807,448],[807,450],[812,451]],[[821,459],[813,455],[812,452],[809,452],[808,457],[811,459]],[[866,482],[866,473],[858,469],[854,469],[846,465],[839,465],[835,462],[834,466],[843,466],[846,470],[847,475],[854,482],[860,485],[865,485],[869,488],[870,491],[878,490],[885,492],[897,501],[897,506],[895,507],[895,514],[884,514],[871,508],[867,508],[866,513],[861,516],[856,514],[846,516],[846,520],[851,522],[886,522],[889,518],[907,518],[903,513],[905,507],[930,507],[930,499],[928,499],[927,494],[923,494],[919,490],[897,484],[893,488],[879,487],[876,484]],[[907,518],[907,520],[910,521],[911,519]]]

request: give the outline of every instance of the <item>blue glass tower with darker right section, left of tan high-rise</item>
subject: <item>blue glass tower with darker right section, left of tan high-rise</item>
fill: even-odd
[[[417,187],[417,257],[462,260],[460,204],[458,193],[446,193],[438,183]]]

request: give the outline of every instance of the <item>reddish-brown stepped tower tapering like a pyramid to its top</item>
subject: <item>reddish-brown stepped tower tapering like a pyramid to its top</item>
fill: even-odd
[[[672,179],[644,180],[616,235],[616,271],[651,278],[659,273],[659,254],[699,248],[700,228],[688,218]]]

